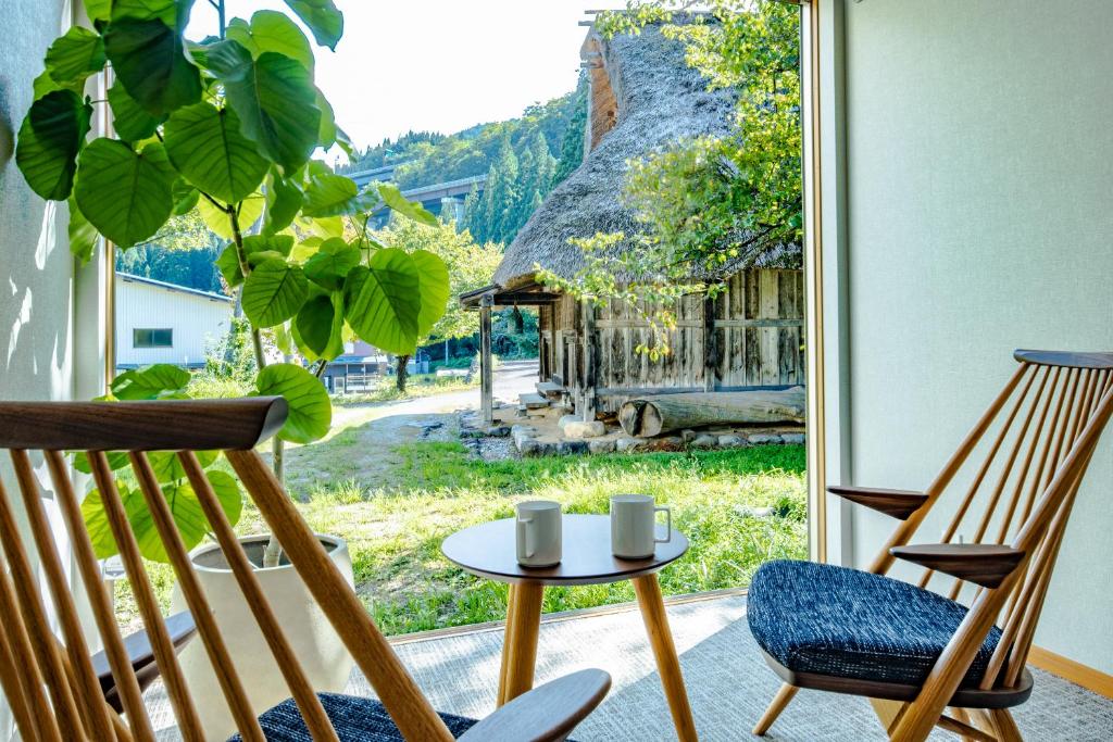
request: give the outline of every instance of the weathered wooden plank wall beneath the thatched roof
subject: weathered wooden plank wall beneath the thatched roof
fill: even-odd
[[[706,342],[705,300],[686,297],[669,334],[672,353],[651,362],[637,353],[650,344],[648,323],[624,303],[595,309],[598,386],[604,389],[804,384],[804,275],[799,270],[746,270],[731,276],[713,301],[713,343]],[[541,315],[550,376],[583,388],[583,309],[564,297]],[[707,378],[708,374],[713,378]],[[615,405],[602,400],[602,408]]]

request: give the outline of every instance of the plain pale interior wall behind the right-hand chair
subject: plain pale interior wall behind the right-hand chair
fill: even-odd
[[[835,10],[825,33],[845,23],[845,60],[828,46],[824,63],[841,97],[824,112],[845,138],[825,128],[824,158],[840,168],[845,147],[845,171],[825,181],[825,263],[845,281],[825,309],[845,301],[829,386],[847,398],[828,422],[849,436],[829,477],[918,488],[1013,372],[1014,348],[1113,350],[1113,2]],[[1105,673],[1111,484],[1106,433],[1036,637]],[[855,508],[848,558],[865,564],[892,526]]]

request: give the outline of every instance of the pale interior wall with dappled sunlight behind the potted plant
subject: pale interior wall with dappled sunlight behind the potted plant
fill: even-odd
[[[32,102],[32,82],[49,44],[71,24],[75,6],[71,0],[4,0],[2,8],[0,399],[87,399],[104,393],[107,270],[102,260],[83,268],[75,265],[66,206],[36,196],[14,162],[16,132]],[[65,555],[67,542],[46,467],[39,457],[35,463]],[[9,494],[11,476],[7,456],[0,457],[0,477]],[[78,610],[86,612],[81,594]],[[10,714],[0,701],[0,739],[12,735]]]

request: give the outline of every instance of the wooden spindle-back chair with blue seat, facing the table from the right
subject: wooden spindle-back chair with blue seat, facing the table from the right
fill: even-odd
[[[1005,388],[923,493],[829,488],[903,522],[868,572],[808,562],[758,570],[748,621],[785,685],[755,734],[808,687],[868,696],[892,740],[918,742],[934,726],[1021,739],[1008,709],[1032,693],[1025,662],[1075,495],[1113,415],[1113,353],[1015,358]],[[909,545],[929,514],[947,523],[940,543]],[[923,567],[918,585],[885,576],[896,560]]]

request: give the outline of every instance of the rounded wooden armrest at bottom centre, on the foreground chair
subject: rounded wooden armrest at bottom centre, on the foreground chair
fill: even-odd
[[[459,742],[560,742],[607,695],[611,676],[581,670],[523,693],[472,726]]]

